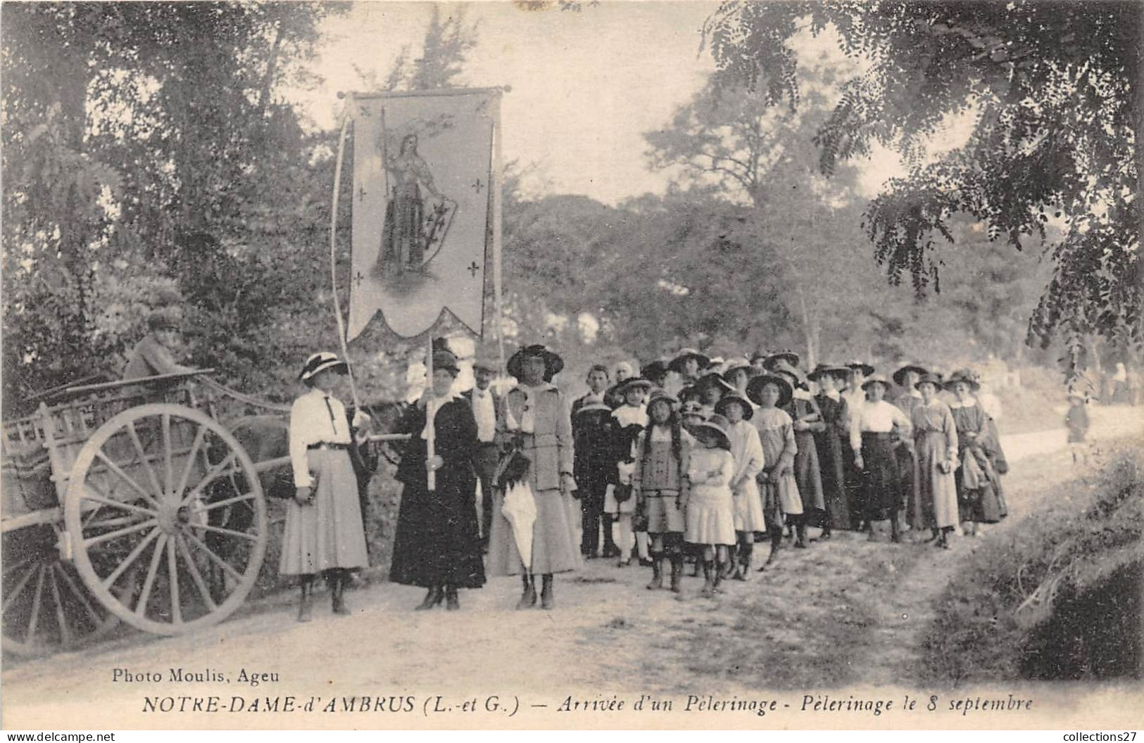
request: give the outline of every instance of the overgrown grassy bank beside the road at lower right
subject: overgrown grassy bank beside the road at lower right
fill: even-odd
[[[1141,676],[1141,441],[984,543],[937,599],[938,682]]]

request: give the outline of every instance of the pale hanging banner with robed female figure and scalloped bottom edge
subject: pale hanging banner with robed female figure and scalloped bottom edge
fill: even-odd
[[[357,96],[347,339],[378,312],[402,337],[445,310],[480,335],[493,125],[487,90]]]

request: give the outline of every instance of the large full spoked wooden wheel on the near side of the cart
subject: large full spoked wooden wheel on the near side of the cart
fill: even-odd
[[[159,634],[230,615],[267,549],[267,505],[251,457],[209,416],[169,404],[125,410],[87,440],[64,524],[92,593]]]

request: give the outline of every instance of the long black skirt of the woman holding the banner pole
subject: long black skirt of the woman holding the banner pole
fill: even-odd
[[[406,484],[397,517],[390,581],[423,588],[478,589],[485,583],[480,552],[476,478],[471,471],[442,468],[432,493]]]

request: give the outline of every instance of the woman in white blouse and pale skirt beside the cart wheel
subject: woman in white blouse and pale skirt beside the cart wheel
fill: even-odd
[[[294,401],[289,456],[295,495],[286,505],[286,529],[278,564],[281,575],[299,576],[297,621],[310,621],[310,592],[326,576],[335,614],[349,614],[343,593],[350,570],[368,565],[357,478],[349,448],[355,445],[345,407],[332,394],[336,374],[348,367],[333,353],[315,353],[299,375],[310,391]]]

